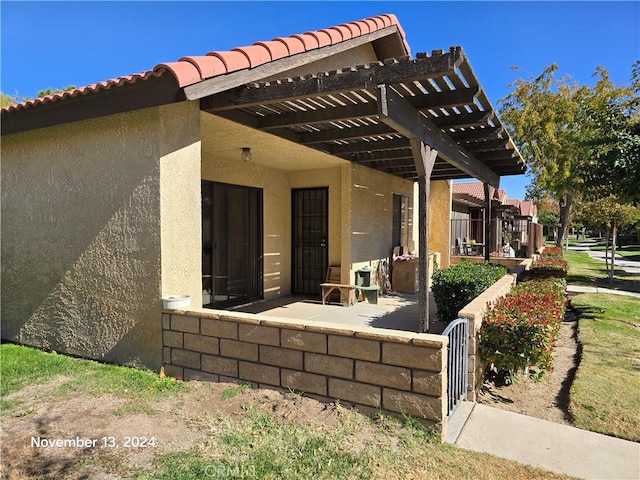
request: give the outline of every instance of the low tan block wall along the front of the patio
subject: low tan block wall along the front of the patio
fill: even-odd
[[[409,414],[446,432],[441,335],[205,309],[165,311],[167,374],[294,389],[322,401]]]

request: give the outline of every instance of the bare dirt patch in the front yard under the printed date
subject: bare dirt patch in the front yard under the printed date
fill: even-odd
[[[150,468],[155,456],[201,443],[208,434],[202,427],[206,422],[201,421],[207,414],[242,415],[243,406],[249,403],[276,418],[323,428],[338,420],[334,405],[229,383],[190,382],[189,392],[137,413],[135,402],[123,398],[48,395],[63,381],[55,379],[13,394],[21,403],[17,415],[2,421],[0,478],[120,478]],[[235,394],[223,398],[228,389]],[[134,413],[126,413],[128,410]],[[55,445],[64,441],[75,443]],[[140,446],[143,442],[145,446]]]

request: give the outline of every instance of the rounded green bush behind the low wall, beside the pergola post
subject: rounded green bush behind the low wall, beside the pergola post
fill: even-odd
[[[507,273],[502,265],[471,263],[443,268],[433,274],[431,292],[438,306],[440,321],[450,323],[471,300],[500,280]]]

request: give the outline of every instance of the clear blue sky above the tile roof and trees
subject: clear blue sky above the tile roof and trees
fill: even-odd
[[[412,54],[461,45],[494,106],[551,63],[581,84],[616,83],[640,59],[640,2],[18,2],[2,0],[3,93],[85,86],[277,36],[397,15]],[[514,71],[513,66],[519,66]],[[523,198],[525,176],[503,177]]]

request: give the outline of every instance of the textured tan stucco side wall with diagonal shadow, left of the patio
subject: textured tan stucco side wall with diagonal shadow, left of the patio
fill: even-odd
[[[176,243],[161,228],[163,213],[176,216],[161,170],[195,161],[197,129],[178,123],[196,112],[151,108],[3,137],[3,338],[160,366],[162,270],[176,268],[161,257]]]

